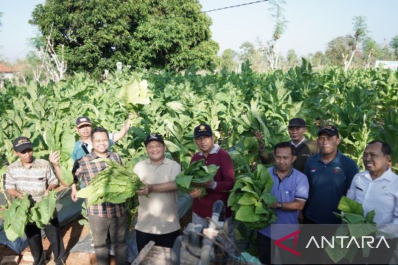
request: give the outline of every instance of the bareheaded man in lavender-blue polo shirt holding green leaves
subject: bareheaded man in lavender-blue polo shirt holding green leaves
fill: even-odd
[[[298,212],[304,207],[308,196],[308,180],[304,174],[293,168],[293,162],[296,160],[295,147],[290,142],[275,145],[274,157],[275,166],[269,168],[268,172],[274,180],[271,193],[277,197],[277,202],[271,208],[276,209],[278,216],[276,224],[293,224],[293,227],[288,229],[295,231],[298,229]],[[261,263],[271,264],[271,259],[275,256],[273,242],[285,235],[278,231],[273,231],[271,234],[271,226],[257,232]],[[284,244],[293,248],[294,239],[287,240]],[[287,251],[283,251],[283,255],[281,255],[283,264],[297,263],[295,258]]]

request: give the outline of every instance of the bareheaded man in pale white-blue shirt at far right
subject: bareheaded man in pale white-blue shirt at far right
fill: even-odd
[[[370,142],[364,151],[366,171],[356,174],[347,197],[362,204],[364,213],[375,210],[374,221],[382,231],[392,233],[387,239],[390,249],[372,249],[368,264],[389,264],[398,237],[398,176],[391,171],[391,147],[381,141]],[[382,245],[381,245],[382,246]]]

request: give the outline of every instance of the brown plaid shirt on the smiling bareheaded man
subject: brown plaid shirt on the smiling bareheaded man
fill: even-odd
[[[108,167],[105,162],[94,161],[98,158],[99,157],[94,152],[91,152],[79,160],[79,166],[83,168],[83,172],[78,177],[83,178],[86,187],[90,184],[91,180],[96,177],[98,173],[100,173],[100,171]],[[120,165],[122,164],[120,156],[115,152],[108,152],[106,158],[119,163]],[[125,203],[103,202],[100,204],[91,205],[87,209],[87,214],[97,215],[99,217],[114,218],[122,216],[125,212],[124,208]]]

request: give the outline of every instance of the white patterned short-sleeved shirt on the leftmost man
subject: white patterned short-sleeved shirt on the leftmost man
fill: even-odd
[[[8,166],[5,173],[5,189],[16,189],[32,196],[35,202],[41,201],[48,185],[58,185],[58,178],[48,161],[33,159],[25,168],[18,159]]]

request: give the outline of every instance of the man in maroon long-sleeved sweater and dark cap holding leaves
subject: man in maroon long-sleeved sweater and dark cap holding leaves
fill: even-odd
[[[235,183],[235,174],[233,172],[233,164],[229,154],[222,150],[217,144],[214,144],[214,135],[211,128],[207,124],[200,124],[194,131],[195,143],[199,148],[191,163],[204,159],[205,165],[219,166],[214,180],[203,183],[201,186],[206,187],[207,195],[198,198],[201,194],[200,189],[194,189],[190,192],[194,198],[194,206],[192,213],[192,222],[208,226],[206,218],[211,218],[213,203],[216,200],[222,200],[225,205],[225,221],[228,224],[228,238],[233,242],[234,233],[231,218],[231,208],[227,207],[229,191]],[[231,244],[226,244],[229,253],[234,254],[234,248]]]

